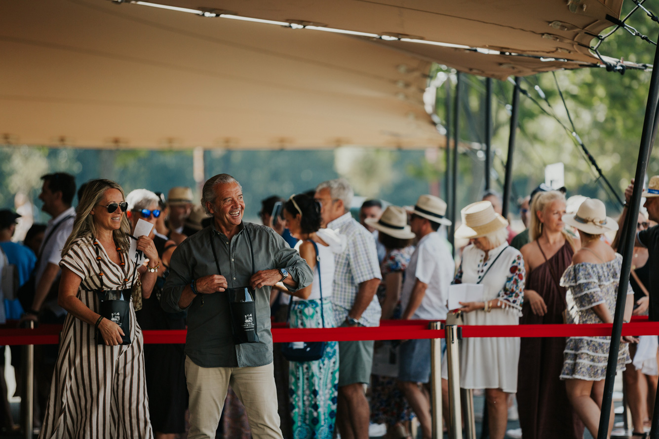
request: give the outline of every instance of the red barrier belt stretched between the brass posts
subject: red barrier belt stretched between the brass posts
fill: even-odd
[[[444,338],[444,330],[430,330],[430,321],[382,321],[374,328],[286,328],[273,324],[275,343],[351,340],[409,340]],[[58,344],[61,325],[42,324],[36,329],[16,329],[15,322],[0,325],[0,345]],[[13,325],[13,328],[11,327]],[[476,337],[598,337],[611,336],[613,325],[601,324],[515,324],[510,326],[461,326],[463,338]],[[183,344],[186,330],[144,330],[146,344]],[[659,322],[632,317],[623,324],[623,336],[659,335]]]

